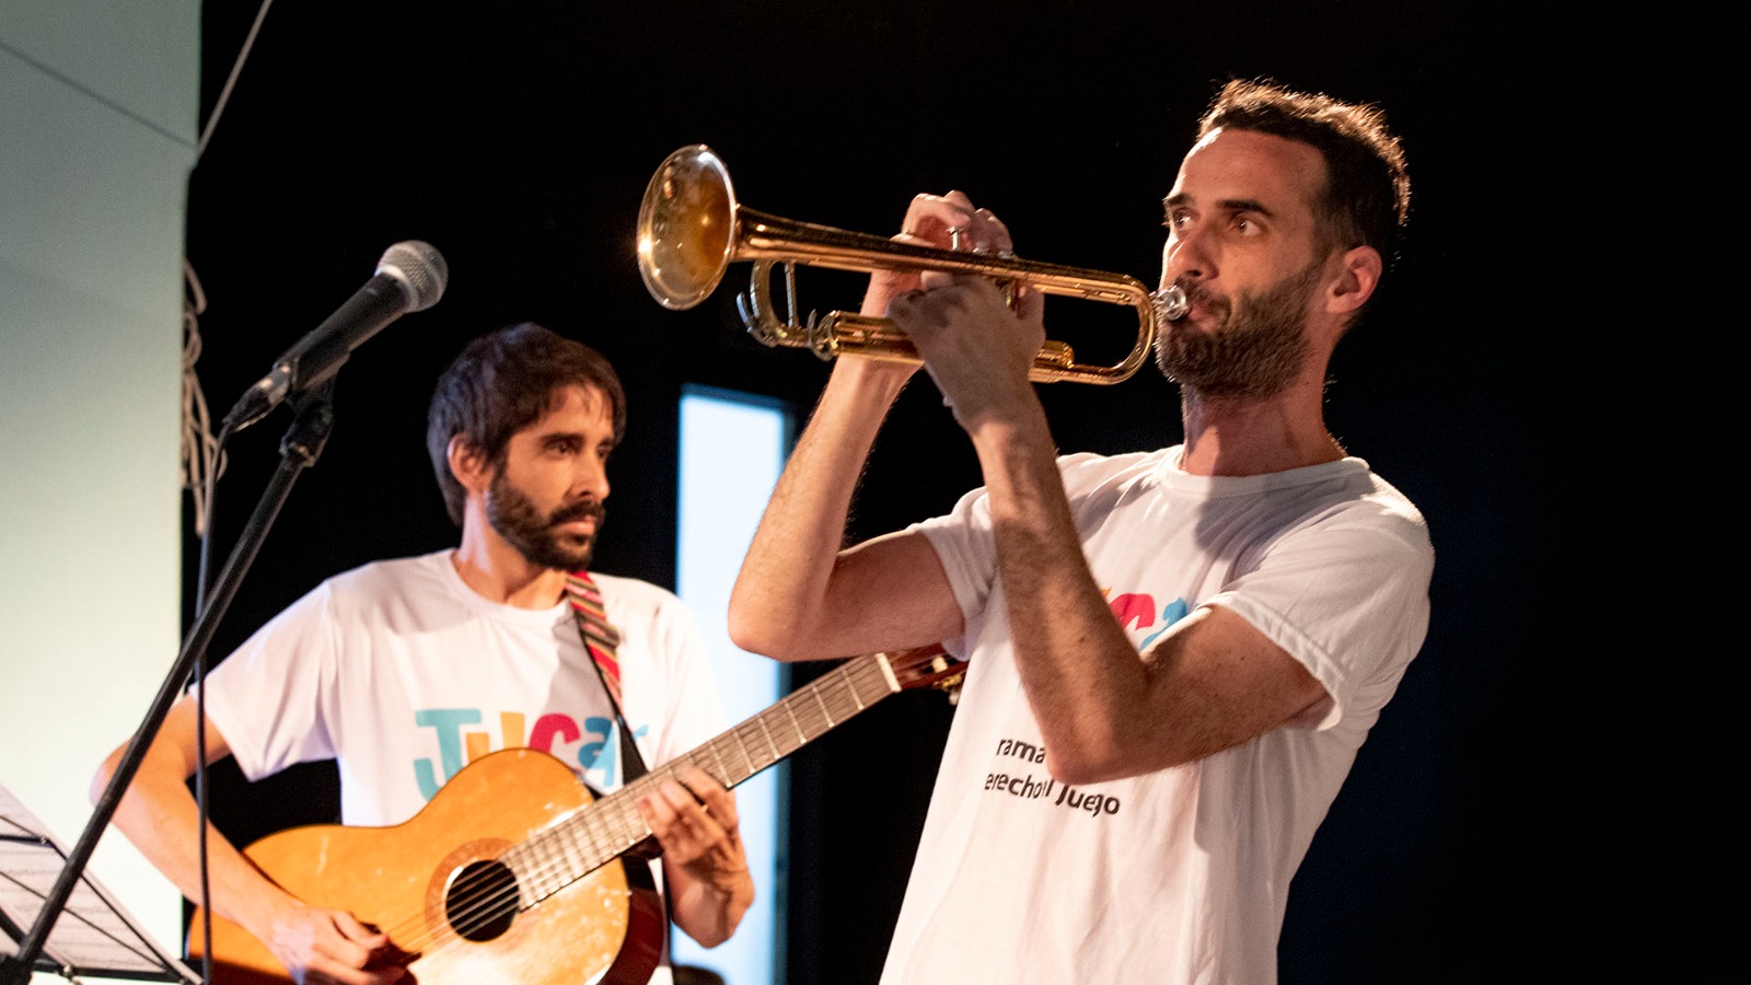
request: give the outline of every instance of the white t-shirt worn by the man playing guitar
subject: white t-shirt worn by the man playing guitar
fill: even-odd
[[[214,668],[207,715],[245,776],[336,759],[341,822],[371,827],[408,820],[501,748],[550,752],[597,794],[622,787],[613,706],[569,605],[489,601],[450,556],[329,578]],[[644,762],[716,738],[723,708],[692,612],[648,582],[592,578],[623,638],[622,696]]]

